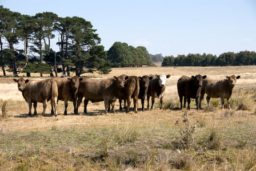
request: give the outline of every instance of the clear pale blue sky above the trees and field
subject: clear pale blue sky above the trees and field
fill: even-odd
[[[27,15],[82,17],[97,29],[105,50],[125,42],[174,57],[256,51],[255,0],[0,0],[0,5]]]

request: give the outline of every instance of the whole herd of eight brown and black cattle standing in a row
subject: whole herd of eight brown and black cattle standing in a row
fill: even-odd
[[[34,107],[34,115],[37,115],[37,103],[43,103],[42,115],[45,115],[47,101],[51,100],[51,113],[58,115],[57,104],[58,100],[65,103],[64,115],[67,115],[67,102],[73,101],[74,113],[78,113],[78,107],[84,100],[83,112],[87,112],[87,104],[104,101],[105,113],[111,110],[115,113],[115,101],[119,99],[119,109],[122,110],[122,100],[125,101],[126,113],[129,112],[131,99],[133,99],[133,111],[137,113],[138,99],[141,99],[142,111],[145,111],[144,101],[147,96],[147,108],[152,110],[154,108],[155,98],[160,99],[160,108],[162,109],[163,96],[165,94],[166,79],[170,75],[144,75],[144,76],[127,76],[120,75],[118,77],[108,79],[90,79],[78,78],[58,78],[53,77],[46,80],[35,81],[29,79],[19,78],[13,79],[18,83],[18,89],[22,92],[22,96],[29,104],[29,115],[31,115],[32,103]],[[232,95],[233,88],[237,79],[240,76],[227,76],[226,79],[217,80],[208,78],[206,75],[182,76],[177,82],[177,89],[179,101],[184,97],[183,108],[190,109],[190,99],[195,99],[197,110],[201,109],[201,101],[203,96],[207,95],[207,104],[209,105],[211,97],[221,98],[223,108],[224,99],[227,99],[228,108],[230,108],[229,100]],[[149,100],[151,97],[151,107]],[[199,102],[198,102],[199,101]]]

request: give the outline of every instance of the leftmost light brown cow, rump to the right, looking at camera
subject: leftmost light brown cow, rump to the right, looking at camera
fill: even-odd
[[[58,87],[53,79],[46,79],[41,81],[28,80],[28,79],[13,79],[14,82],[18,83],[18,89],[22,92],[22,96],[29,104],[29,115],[31,115],[32,103],[34,103],[34,115],[37,115],[37,103],[43,103],[43,113],[47,107],[47,101],[51,100],[51,105],[54,108],[55,116],[57,112],[57,98],[58,98]]]

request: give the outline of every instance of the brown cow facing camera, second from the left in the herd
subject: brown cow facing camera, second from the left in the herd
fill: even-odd
[[[74,112],[75,112],[75,105],[77,104],[77,91],[79,86],[79,81],[83,78],[79,78],[78,76],[73,76],[72,78],[59,78],[59,77],[52,77],[58,86],[58,100],[64,101],[65,104],[65,111],[64,115],[67,115],[67,101],[73,101],[74,105]],[[58,104],[57,100],[57,104]],[[53,112],[53,108],[52,108]]]

